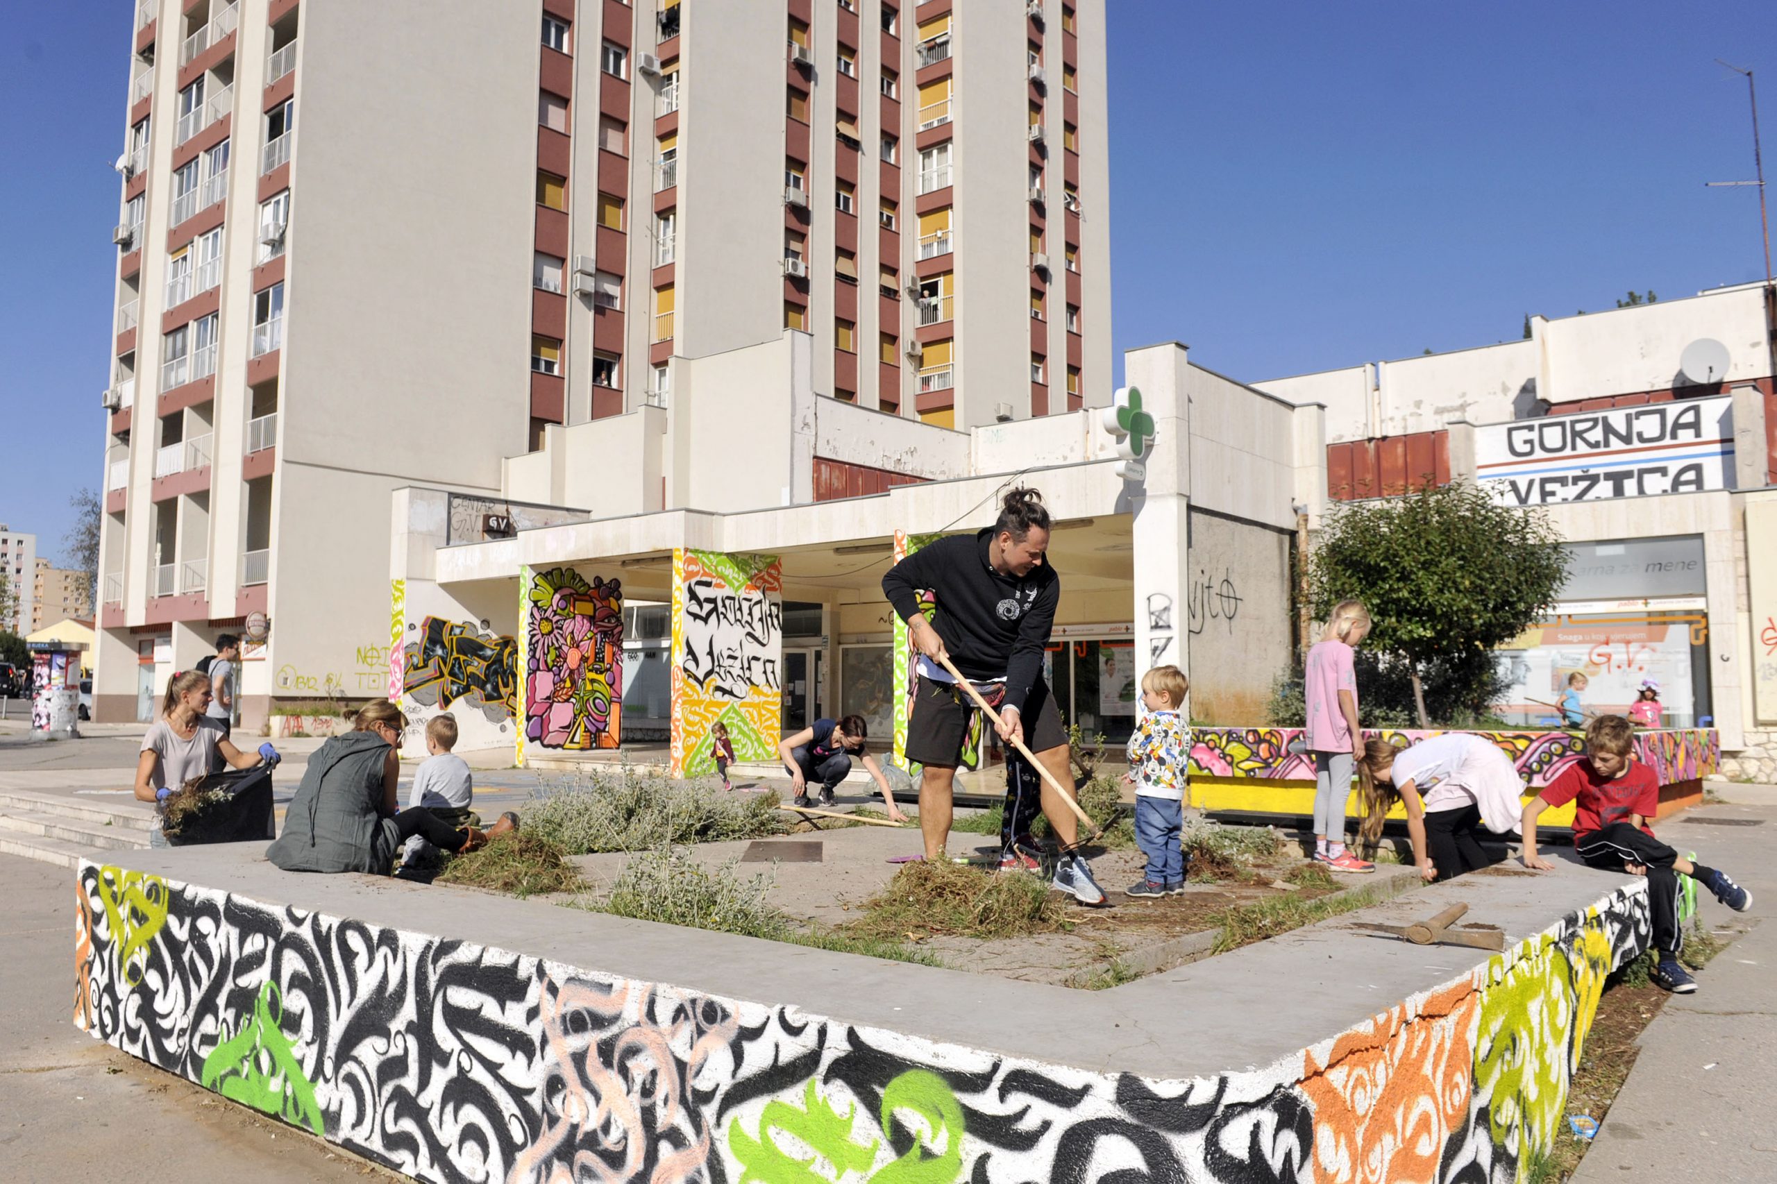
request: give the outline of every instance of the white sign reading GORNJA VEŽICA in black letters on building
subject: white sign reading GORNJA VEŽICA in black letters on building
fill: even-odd
[[[1475,476],[1505,505],[1734,487],[1733,396],[1642,404],[1475,430]]]

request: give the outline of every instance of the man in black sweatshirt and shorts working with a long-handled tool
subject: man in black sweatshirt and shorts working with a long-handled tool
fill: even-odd
[[[993,526],[938,539],[883,576],[883,594],[908,624],[920,654],[906,757],[926,766],[919,786],[919,827],[929,860],[945,859],[956,766],[974,713],[974,704],[938,658],[949,658],[999,709],[993,729],[1002,740],[1025,743],[1057,780],[1072,782],[1068,731],[1043,681],[1043,651],[1061,603],[1061,580],[1045,556],[1048,526],[1043,494],[1011,489]],[[920,592],[931,592],[936,601],[931,620],[920,612]],[[1061,841],[1054,887],[1082,903],[1102,905],[1104,889],[1073,852],[1079,843],[1073,814],[1047,782],[1041,807]]]

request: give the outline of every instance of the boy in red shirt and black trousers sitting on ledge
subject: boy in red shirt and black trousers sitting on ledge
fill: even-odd
[[[1654,837],[1649,821],[1660,809],[1660,780],[1635,759],[1635,729],[1621,715],[1601,715],[1585,729],[1585,759],[1574,761],[1542,793],[1525,804],[1525,868],[1553,871],[1537,855],[1537,818],[1550,805],[1574,804],[1573,848],[1587,868],[1647,876],[1654,949],[1660,965],[1649,978],[1670,992],[1688,996],[1697,981],[1677,962],[1685,937],[1677,923],[1677,876],[1692,876],[1734,912],[1752,907],[1745,891],[1715,868],[1681,859]]]

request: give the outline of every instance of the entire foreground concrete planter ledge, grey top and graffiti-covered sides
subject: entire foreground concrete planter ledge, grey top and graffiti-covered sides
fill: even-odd
[[[1473,875],[1082,992],[368,876],[76,873],[75,1022],[426,1180],[1514,1179],[1646,882]],[[1464,900],[1503,955],[1351,928]]]

